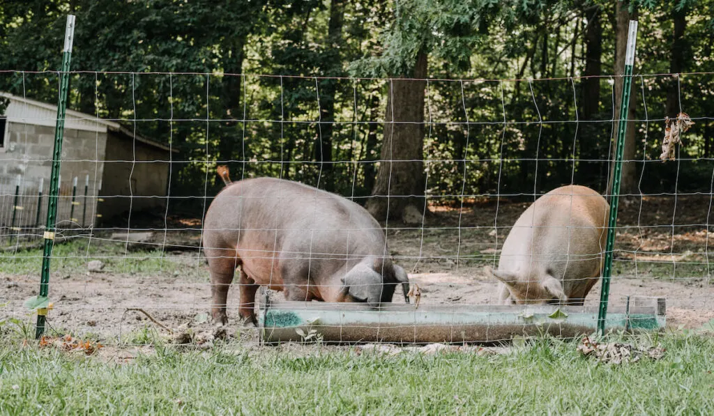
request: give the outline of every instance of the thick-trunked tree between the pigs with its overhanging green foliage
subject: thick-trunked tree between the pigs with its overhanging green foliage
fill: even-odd
[[[478,39],[476,31],[485,27],[488,15],[497,7],[490,2],[456,0],[395,3],[393,24],[382,35],[382,54],[351,66],[353,74],[391,78],[380,166],[373,198],[366,204],[378,220],[407,220],[404,214],[409,206],[423,213],[428,56],[445,59],[461,70],[468,68]]]

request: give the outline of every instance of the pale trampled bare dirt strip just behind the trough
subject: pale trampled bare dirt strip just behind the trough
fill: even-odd
[[[71,330],[84,336],[115,338],[135,333],[146,325],[152,326],[144,315],[127,308],[143,308],[169,328],[195,325],[196,317],[208,312],[210,288],[208,282],[178,282],[174,276],[136,278],[114,273],[76,275],[52,283],[51,298],[54,310],[49,323],[57,330]],[[497,284],[485,275],[462,273],[418,273],[411,280],[421,288],[422,304],[497,304]],[[12,298],[2,315],[22,320],[29,319],[22,306],[24,299],[34,295],[37,282],[31,276],[0,275],[0,299]],[[237,316],[237,288],[231,292],[229,315]],[[593,288],[586,305],[596,306],[600,285]],[[627,295],[663,297],[667,300],[668,326],[698,328],[714,319],[714,285],[696,283],[683,285],[654,278],[615,278],[610,286],[610,305],[624,305]],[[395,296],[401,302],[401,296]],[[235,320],[231,325],[241,326]],[[198,325],[201,326],[201,325]],[[246,333],[246,335],[248,335]]]

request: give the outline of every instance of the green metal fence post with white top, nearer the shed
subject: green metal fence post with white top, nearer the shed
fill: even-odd
[[[74,15],[67,16],[64,31],[64,49],[62,54],[62,69],[59,74],[59,102],[57,103],[57,123],[54,131],[54,151],[52,152],[52,173],[49,183],[49,204],[47,207],[47,225],[44,231],[44,250],[42,253],[42,275],[40,279],[39,298],[47,298],[49,293],[49,265],[54,245],[55,221],[57,219],[57,201],[59,200],[59,166],[62,155],[62,138],[64,137],[64,116],[67,106],[67,90],[69,88],[69,64],[74,41]],[[45,330],[47,308],[37,310],[37,326],[35,338],[39,339]]]

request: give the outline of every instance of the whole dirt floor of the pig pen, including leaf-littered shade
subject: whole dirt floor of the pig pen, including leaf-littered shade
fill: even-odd
[[[620,249],[610,288],[610,305],[624,305],[625,296],[663,297],[667,301],[668,326],[698,328],[714,319],[714,281],[708,278],[708,197],[658,198],[656,201],[625,201],[618,233]],[[483,273],[495,265],[498,250],[509,227],[528,203],[493,201],[473,203],[461,215],[458,210],[432,207],[423,228],[388,225],[388,239],[396,262],[410,273],[422,292],[421,302],[434,304],[487,305],[498,303],[497,284]],[[679,208],[677,208],[679,207]],[[682,208],[685,207],[686,210]],[[498,215],[496,215],[498,213]],[[497,220],[497,221],[495,221]],[[638,228],[640,225],[647,225]],[[675,226],[671,224],[685,224]],[[191,223],[193,224],[193,223]],[[497,226],[494,228],[494,225]],[[179,228],[180,223],[176,223]],[[193,224],[195,225],[195,224]],[[193,226],[192,225],[192,226]],[[163,233],[156,236],[162,241]],[[176,246],[196,245],[196,232],[169,235]],[[142,328],[154,324],[127,308],[143,308],[170,328],[197,323],[208,312],[208,268],[196,258],[196,250],[171,251],[167,260],[178,268],[156,273],[126,273],[105,268],[100,273],[86,269],[54,273],[49,323],[56,330],[75,335],[126,341]],[[638,259],[635,268],[633,260]],[[38,263],[39,271],[39,263]],[[22,303],[36,294],[39,273],[0,273],[0,320],[14,317],[34,322]],[[395,301],[401,302],[401,296]],[[597,305],[600,284],[590,292],[586,305]],[[237,316],[238,288],[231,290],[228,314],[236,336],[254,340],[254,331],[242,330]],[[4,305],[5,303],[5,305]],[[123,338],[123,339],[122,339]]]

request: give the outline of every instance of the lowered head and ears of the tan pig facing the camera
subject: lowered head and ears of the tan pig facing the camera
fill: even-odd
[[[563,284],[550,274],[521,275],[504,270],[493,270],[490,267],[486,267],[486,274],[506,285],[511,293],[511,299],[519,305],[568,303],[568,296],[563,291]]]

